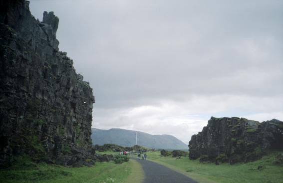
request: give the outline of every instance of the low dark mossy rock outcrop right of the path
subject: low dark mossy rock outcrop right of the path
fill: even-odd
[[[269,150],[283,150],[283,122],[214,118],[189,142],[189,158],[216,164],[250,162]]]

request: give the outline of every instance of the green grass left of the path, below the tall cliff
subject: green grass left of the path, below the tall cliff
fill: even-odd
[[[96,163],[93,167],[68,168],[35,164],[26,158],[9,169],[0,170],[3,183],[141,183],[143,172],[133,160],[123,164]]]

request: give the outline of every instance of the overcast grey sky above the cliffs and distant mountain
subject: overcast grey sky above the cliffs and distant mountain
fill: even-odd
[[[174,135],[283,121],[283,0],[30,0],[89,81],[93,128]]]

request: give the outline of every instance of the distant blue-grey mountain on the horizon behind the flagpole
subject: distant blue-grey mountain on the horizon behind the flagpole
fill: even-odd
[[[136,131],[113,128],[100,130],[92,128],[92,144],[117,144],[124,147],[132,147],[136,144]],[[137,132],[137,144],[155,149],[188,149],[188,145],[171,135],[151,135]]]

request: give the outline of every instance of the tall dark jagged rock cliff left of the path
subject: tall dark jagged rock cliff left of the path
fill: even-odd
[[[0,0],[0,167],[17,155],[89,164],[92,88],[58,51],[58,17],[40,22],[28,3]]]

